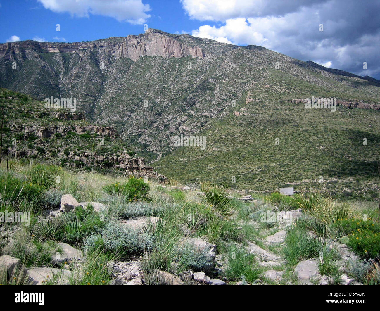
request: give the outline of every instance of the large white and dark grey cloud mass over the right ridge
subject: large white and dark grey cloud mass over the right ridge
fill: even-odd
[[[328,0],[181,0],[202,25],[193,36],[255,44],[296,59],[380,79],[380,2]],[[281,8],[281,10],[279,9]],[[283,10],[282,10],[283,9]],[[323,24],[323,31],[320,31]],[[363,62],[371,64],[363,70]]]

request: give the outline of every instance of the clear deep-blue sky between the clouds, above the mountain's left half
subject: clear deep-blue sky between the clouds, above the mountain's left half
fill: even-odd
[[[0,0],[0,41],[6,42],[13,35],[20,40],[42,38],[46,41],[63,41],[62,38],[65,38],[68,42],[90,41],[111,36],[138,35],[144,32],[144,24],[170,33],[191,32],[203,24],[189,19],[179,1],[168,0],[165,5],[158,0],[143,3],[149,3],[151,10],[146,13],[150,17],[143,24],[133,25],[108,16],[89,14],[89,17],[77,17],[68,12],[55,13],[35,0]],[[55,30],[56,24],[60,24],[60,32]],[[61,40],[54,39],[57,37]]]

